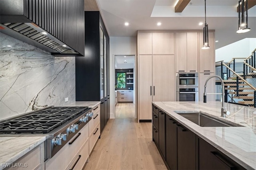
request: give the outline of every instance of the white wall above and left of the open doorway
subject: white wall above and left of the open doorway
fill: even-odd
[[[110,118],[114,118],[114,55],[135,55],[136,37],[110,37]]]

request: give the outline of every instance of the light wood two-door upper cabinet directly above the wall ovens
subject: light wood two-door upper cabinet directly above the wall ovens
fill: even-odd
[[[197,40],[197,32],[176,32],[176,72],[198,72]]]

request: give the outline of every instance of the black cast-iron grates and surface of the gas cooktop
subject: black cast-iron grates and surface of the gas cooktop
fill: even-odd
[[[49,133],[88,107],[50,107],[0,123],[0,134]]]

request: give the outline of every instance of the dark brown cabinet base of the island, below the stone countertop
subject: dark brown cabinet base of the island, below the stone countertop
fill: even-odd
[[[152,117],[152,140],[168,169],[245,170],[154,104]]]

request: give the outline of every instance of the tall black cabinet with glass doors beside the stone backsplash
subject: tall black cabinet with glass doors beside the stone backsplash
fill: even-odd
[[[76,101],[100,101],[100,131],[110,118],[110,45],[99,11],[84,12],[84,57],[76,57]]]

